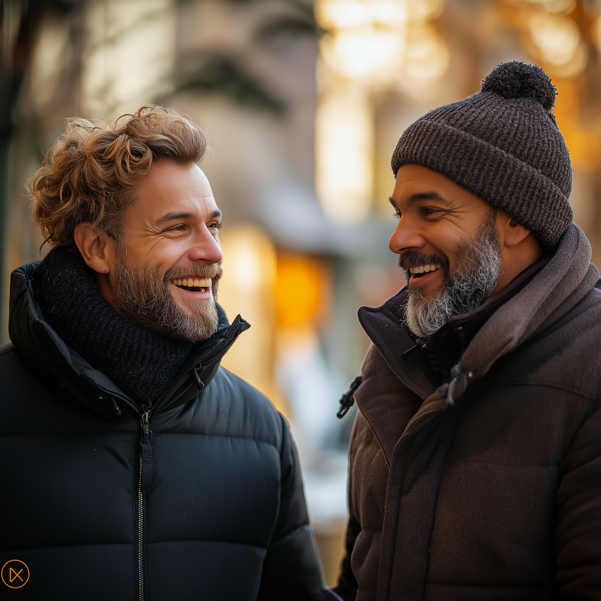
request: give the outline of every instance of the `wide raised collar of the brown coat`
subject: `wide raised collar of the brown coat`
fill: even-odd
[[[591,246],[584,232],[570,225],[546,266],[481,326],[451,370],[451,382],[439,388],[441,396],[449,404],[456,403],[470,382],[581,301],[599,280],[590,258]],[[404,287],[380,307],[361,307],[358,317],[398,379],[425,400],[435,392],[437,381],[422,353],[403,356],[414,346],[405,323],[406,293]]]

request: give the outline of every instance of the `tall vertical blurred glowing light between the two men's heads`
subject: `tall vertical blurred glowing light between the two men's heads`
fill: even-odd
[[[364,94],[324,97],[316,115],[316,188],[331,221],[362,221],[370,210],[373,123]]]

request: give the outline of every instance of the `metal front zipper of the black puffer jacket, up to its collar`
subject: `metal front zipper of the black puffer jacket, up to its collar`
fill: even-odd
[[[236,342],[236,338],[240,332],[236,332],[236,335],[230,341],[230,343],[225,346],[223,350],[217,353],[215,356],[210,356],[211,353],[215,352],[218,349],[220,344],[223,344],[227,341],[222,340],[218,344],[216,344],[212,349],[206,352],[198,361],[194,364],[190,365],[188,369],[182,374],[181,377],[188,374],[192,371],[197,365],[208,365],[210,362],[215,361],[215,359],[219,358],[219,356],[223,355],[230,348],[234,342]],[[178,378],[179,379],[179,378]],[[171,386],[169,386],[171,388]],[[144,472],[146,468],[148,470],[152,470],[152,430],[150,430],[150,414],[154,411],[154,408],[159,404],[159,401],[165,396],[165,392],[154,401],[154,404],[150,409],[142,413],[140,416],[140,456],[139,456],[139,478],[138,478],[138,601],[144,601],[144,489],[145,489],[145,481],[148,481],[148,478],[151,478],[151,475],[148,475],[147,472]],[[129,403],[131,404],[131,403]],[[137,410],[137,408],[136,408]],[[148,454],[150,454],[150,465],[148,465]]]

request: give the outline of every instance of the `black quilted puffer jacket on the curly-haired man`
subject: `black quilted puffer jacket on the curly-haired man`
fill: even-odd
[[[0,350],[0,599],[290,600],[319,589],[288,426],[219,367],[248,324],[221,311],[143,438],[136,404],[41,319],[34,267],[11,276],[14,346]],[[14,560],[27,566],[19,578]]]

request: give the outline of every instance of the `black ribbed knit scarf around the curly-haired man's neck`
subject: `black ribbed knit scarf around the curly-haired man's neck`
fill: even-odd
[[[78,251],[52,249],[33,283],[44,319],[64,343],[142,406],[160,397],[192,349],[121,317]]]

